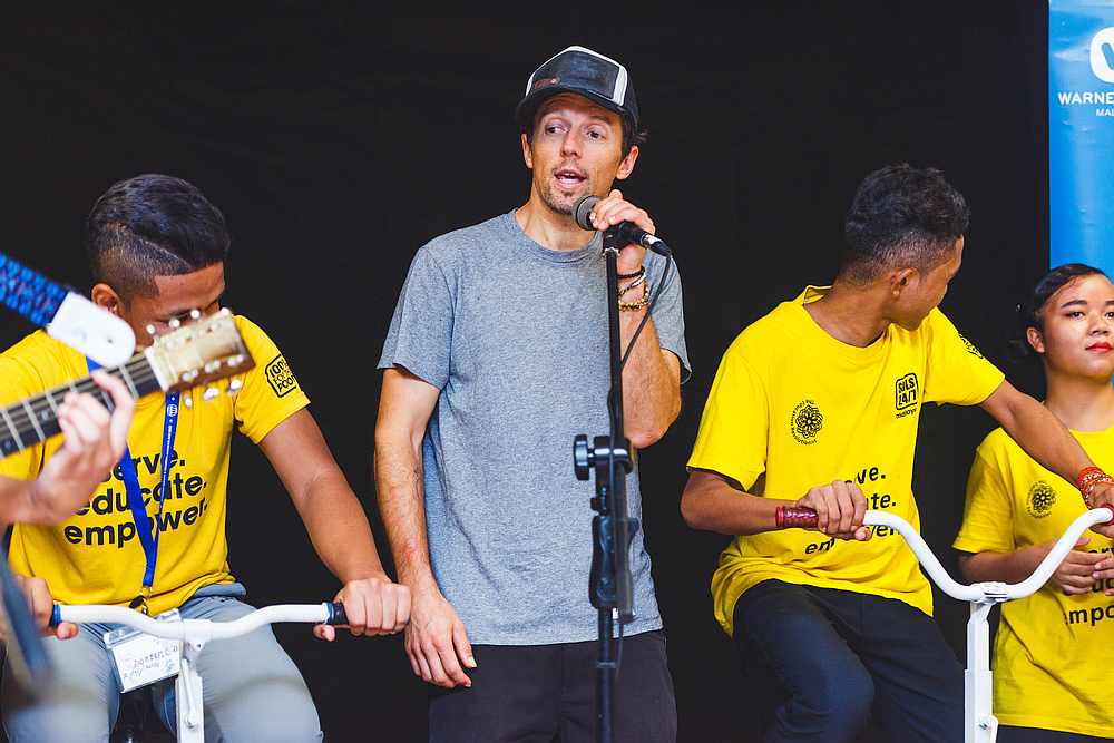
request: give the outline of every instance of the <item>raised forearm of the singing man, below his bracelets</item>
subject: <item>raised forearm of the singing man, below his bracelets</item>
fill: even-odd
[[[619,313],[622,352],[645,310]],[[623,370],[623,412],[626,434],[635,447],[647,447],[665,434],[681,412],[681,389],[666,362],[654,321],[647,320]]]

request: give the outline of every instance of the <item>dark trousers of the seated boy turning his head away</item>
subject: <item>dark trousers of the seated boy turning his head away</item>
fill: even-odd
[[[895,741],[964,740],[962,668],[922,612],[766,580],[740,597],[734,618],[766,743],[852,741],[871,714]]]

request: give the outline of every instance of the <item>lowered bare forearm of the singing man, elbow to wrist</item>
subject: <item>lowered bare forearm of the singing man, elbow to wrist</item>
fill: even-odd
[[[436,585],[426,536],[421,454],[409,442],[392,444],[377,434],[375,490],[399,581],[411,588]]]

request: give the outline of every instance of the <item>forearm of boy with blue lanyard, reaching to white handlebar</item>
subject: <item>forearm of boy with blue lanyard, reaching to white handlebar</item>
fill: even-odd
[[[340,471],[315,478],[295,502],[314,550],[341,583],[385,577],[368,516]]]

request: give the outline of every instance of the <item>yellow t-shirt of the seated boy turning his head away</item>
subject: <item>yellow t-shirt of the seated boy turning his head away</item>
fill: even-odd
[[[809,286],[734,340],[716,372],[690,468],[795,500],[837,479],[857,482],[868,508],[919,528],[912,461],[924,402],[977,404],[1004,377],[939,310],[915,331],[890,325],[867,348],[842,343],[804,309]],[[758,495],[758,493],[756,493]],[[732,634],[735,602],[763,580],[896,598],[926,614],[932,593],[901,536],[866,542],[785,529],[739,536],[712,577],[715,617]]]

